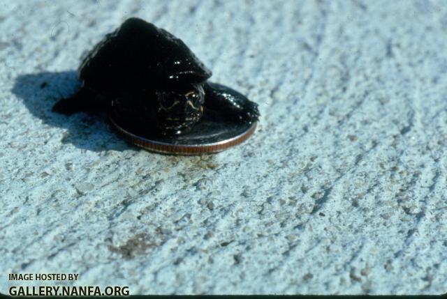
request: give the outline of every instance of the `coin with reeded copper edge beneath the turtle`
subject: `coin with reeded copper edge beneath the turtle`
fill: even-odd
[[[205,112],[196,125],[175,137],[150,137],[140,128],[131,128],[118,114],[109,114],[116,132],[129,143],[156,153],[201,155],[218,153],[247,140],[256,130],[255,123],[228,121],[216,112]]]

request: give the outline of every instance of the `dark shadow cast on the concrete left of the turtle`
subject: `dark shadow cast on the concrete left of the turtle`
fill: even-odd
[[[124,151],[135,147],[119,139],[105,114],[80,112],[66,116],[52,112],[60,98],[68,98],[80,89],[77,72],[39,72],[19,75],[12,93],[21,98],[29,112],[43,123],[64,128],[63,144],[73,144],[88,151]]]

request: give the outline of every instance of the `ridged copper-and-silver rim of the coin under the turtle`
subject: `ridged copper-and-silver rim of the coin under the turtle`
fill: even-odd
[[[168,144],[166,142],[156,141],[147,139],[145,137],[140,137],[134,135],[133,133],[125,130],[119,126],[112,117],[110,117],[110,122],[115,127],[119,135],[122,135],[127,141],[140,148],[145,148],[148,151],[154,151],[156,153],[174,153],[177,155],[200,155],[205,153],[219,153],[227,148],[241,144],[243,141],[247,140],[256,130],[256,122],[251,125],[251,127],[240,135],[232,137],[230,139],[225,139],[219,142],[214,142],[210,144]]]

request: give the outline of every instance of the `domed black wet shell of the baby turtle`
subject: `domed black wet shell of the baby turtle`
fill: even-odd
[[[78,72],[85,86],[101,93],[169,89],[212,75],[182,40],[138,18],[107,34]]]

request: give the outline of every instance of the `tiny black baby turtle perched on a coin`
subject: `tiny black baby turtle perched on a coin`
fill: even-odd
[[[147,136],[181,135],[204,109],[242,123],[259,116],[258,105],[244,95],[207,82],[212,72],[182,40],[138,18],[108,33],[78,73],[81,89],[59,100],[54,111],[112,111]]]

